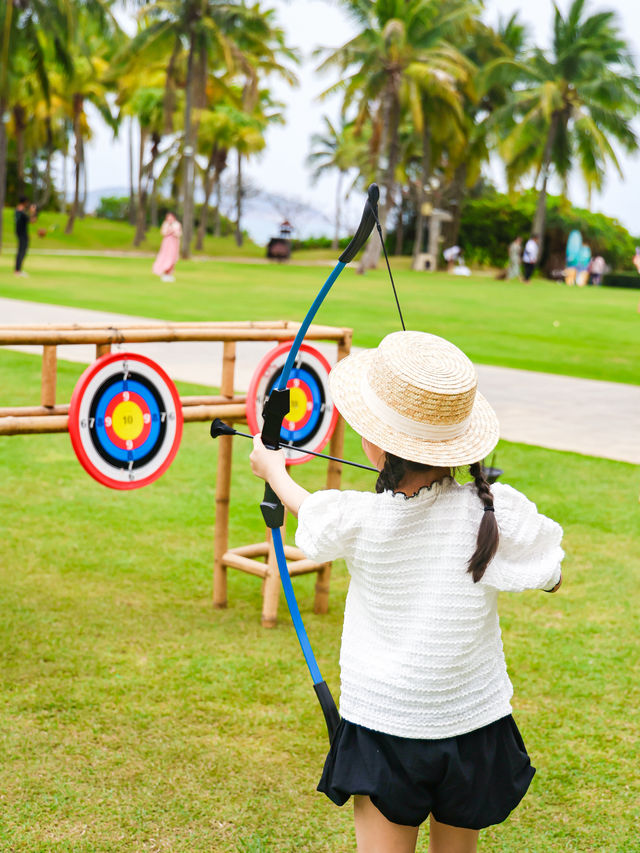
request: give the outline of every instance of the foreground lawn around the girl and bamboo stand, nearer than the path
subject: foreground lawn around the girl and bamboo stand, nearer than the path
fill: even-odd
[[[39,369],[1,353],[0,404],[31,400]],[[81,369],[60,363],[60,399]],[[234,456],[236,545],[264,534],[248,450]],[[345,453],[360,453],[350,432]],[[639,851],[637,469],[504,442],[498,461],[563,525],[567,558],[560,593],[501,596],[538,772],[480,850]],[[0,442],[0,849],[354,849],[349,807],[314,790],[326,733],[284,602],[278,627],[260,628],[260,584],[230,572],[228,609],[211,607],[215,469],[206,424],[186,425],[169,471],[130,493],[89,478],[66,435]],[[296,477],[321,487],[323,467]],[[345,471],[343,484],[369,477]],[[346,570],[327,616],[311,612],[312,578],[295,585],[337,692]]]

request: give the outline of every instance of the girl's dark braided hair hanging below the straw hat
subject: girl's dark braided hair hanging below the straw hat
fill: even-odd
[[[394,456],[392,453],[385,453],[384,465],[376,481],[376,492],[393,492],[398,488],[405,474],[409,471],[427,472],[432,471],[435,467],[437,466],[423,465],[420,462],[412,462],[408,459]],[[493,510],[491,486],[484,476],[482,463],[474,462],[473,465],[470,465],[469,473],[474,479],[483,509],[488,508],[487,512],[482,513],[482,521],[478,528],[478,538],[476,540],[476,550],[473,552],[467,568],[469,574],[473,576],[473,582],[478,583],[498,550],[499,533],[495,513],[491,511]]]

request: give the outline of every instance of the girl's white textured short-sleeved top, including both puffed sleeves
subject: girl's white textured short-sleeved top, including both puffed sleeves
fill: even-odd
[[[499,590],[552,589],[562,528],[511,486],[491,487],[500,530],[483,578],[467,572],[482,519],[475,485],[447,478],[412,498],[321,491],[300,507],[297,545],[346,560],[340,713],[410,738],[473,731],[511,713]]]

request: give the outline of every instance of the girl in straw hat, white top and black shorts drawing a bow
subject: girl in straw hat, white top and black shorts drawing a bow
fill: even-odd
[[[375,493],[309,494],[282,452],[254,439],[251,466],[298,516],[313,560],[351,579],[340,653],[342,720],[318,786],[354,796],[361,853],[474,853],[534,774],[511,716],[500,590],[560,586],[562,530],[481,462],[497,418],[473,365],[435,335],[395,332],[329,379],[380,475]],[[459,466],[473,482],[459,485]]]

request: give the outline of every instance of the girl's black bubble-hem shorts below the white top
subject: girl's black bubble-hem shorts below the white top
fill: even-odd
[[[535,769],[511,715],[438,740],[396,737],[341,720],[318,791],[339,806],[364,794],[387,820],[483,829],[520,802]]]

